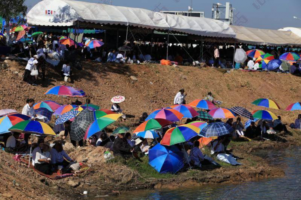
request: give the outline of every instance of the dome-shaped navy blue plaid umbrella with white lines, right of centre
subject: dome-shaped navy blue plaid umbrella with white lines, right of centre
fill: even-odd
[[[203,130],[200,132],[200,135],[205,137],[216,137],[230,134],[233,131],[233,128],[229,124],[223,122],[214,122],[203,128]]]

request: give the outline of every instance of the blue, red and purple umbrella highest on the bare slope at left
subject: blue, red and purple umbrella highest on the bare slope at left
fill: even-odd
[[[73,88],[67,85],[54,86],[47,90],[45,94],[54,94],[58,96],[66,97],[85,97],[86,94],[83,90],[78,88]]]

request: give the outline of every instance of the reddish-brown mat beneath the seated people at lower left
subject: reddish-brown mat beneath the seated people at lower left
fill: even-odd
[[[25,158],[20,158],[20,162],[25,163],[26,166],[28,166],[28,159],[26,160]],[[45,176],[52,180],[57,180],[57,179],[62,179],[62,178],[66,178],[66,177],[70,177],[70,176],[74,176],[76,174],[86,172],[90,169],[90,166],[82,165],[80,171],[76,171],[76,173],[75,173],[75,171],[71,171],[72,173],[70,173],[70,174],[61,174],[61,170],[54,170],[54,172],[51,175],[47,175],[47,174],[40,172],[39,170],[36,170],[34,168],[34,166],[31,164],[30,164],[30,168],[33,169],[33,171],[35,171],[36,173],[38,173],[41,176]]]

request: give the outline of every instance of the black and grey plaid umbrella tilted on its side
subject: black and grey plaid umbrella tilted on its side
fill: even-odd
[[[83,139],[88,127],[94,121],[94,112],[90,109],[84,109],[71,124],[70,139],[75,141]]]

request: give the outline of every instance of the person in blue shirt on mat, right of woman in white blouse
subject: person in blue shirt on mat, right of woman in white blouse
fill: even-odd
[[[66,151],[63,149],[61,142],[57,142],[50,151],[51,163],[57,168],[57,166],[67,167],[73,160],[68,156]]]

